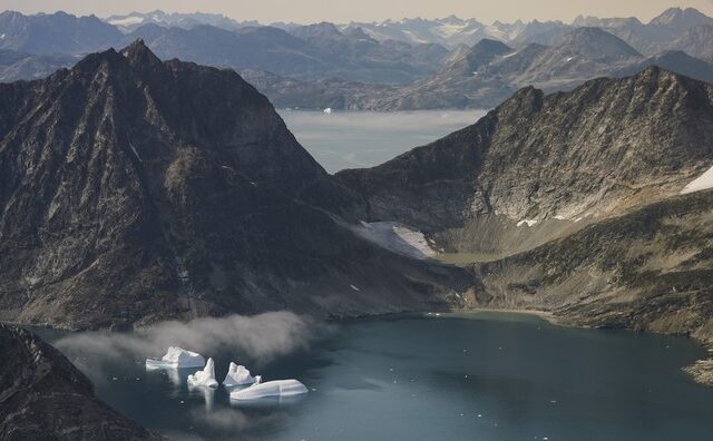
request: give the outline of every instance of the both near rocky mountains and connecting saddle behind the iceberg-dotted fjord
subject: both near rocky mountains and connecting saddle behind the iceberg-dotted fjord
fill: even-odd
[[[688,190],[713,164],[710,84],[648,67],[526,87],[335,176],[233,70],[140,40],[0,97],[2,320],[511,307],[713,344],[713,183]]]

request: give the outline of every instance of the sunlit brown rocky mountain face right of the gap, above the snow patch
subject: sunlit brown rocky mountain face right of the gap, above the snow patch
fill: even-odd
[[[338,177],[371,219],[453,251],[514,253],[677,194],[713,164],[712,99],[710,85],[658,68],[572,92],[526,88],[473,126]]]

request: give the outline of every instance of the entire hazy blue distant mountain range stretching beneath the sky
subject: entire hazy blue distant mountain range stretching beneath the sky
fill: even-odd
[[[672,8],[648,23],[579,17],[490,26],[452,16],[260,26],[158,10],[104,21],[7,11],[0,14],[0,80],[41,78],[78,55],[137,38],[162,59],[235,69],[290,108],[489,108],[524,86],[568,90],[652,65],[713,79],[713,19]]]

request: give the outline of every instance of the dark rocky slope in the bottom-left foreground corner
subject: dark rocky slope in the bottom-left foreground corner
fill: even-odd
[[[0,438],[159,440],[94,396],[81,372],[35,334],[0,323]]]

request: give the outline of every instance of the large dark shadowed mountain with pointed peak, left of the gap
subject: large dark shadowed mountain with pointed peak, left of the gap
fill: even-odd
[[[358,238],[361,202],[234,71],[138,41],[0,98],[3,318],[438,307],[458,275]]]

